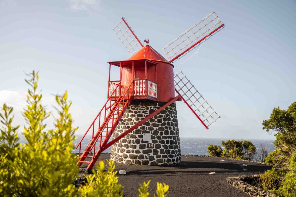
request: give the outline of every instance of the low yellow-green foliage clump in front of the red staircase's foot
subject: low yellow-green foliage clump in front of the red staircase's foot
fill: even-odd
[[[118,197],[123,196],[123,186],[118,183],[117,171],[114,172],[114,161],[109,161],[108,171],[104,172],[105,164],[99,162],[93,174],[85,176],[86,185],[79,188],[81,197]]]

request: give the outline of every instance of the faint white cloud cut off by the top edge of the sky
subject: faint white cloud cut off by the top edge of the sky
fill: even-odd
[[[99,9],[99,0],[67,0],[71,10],[78,11],[92,11]]]

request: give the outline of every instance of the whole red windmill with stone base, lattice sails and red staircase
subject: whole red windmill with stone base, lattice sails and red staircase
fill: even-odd
[[[122,18],[113,30],[131,57],[108,62],[107,101],[76,146],[79,148],[77,165],[86,163],[87,169],[91,169],[110,146],[111,159],[116,163],[179,164],[181,150],[175,102],[183,100],[206,129],[220,116],[183,71],[174,74],[172,63],[223,27],[215,12],[207,15],[163,47],[168,61],[150,45],[144,46]],[[110,81],[111,65],[120,68],[118,81]],[[92,139],[81,153],[87,133],[91,133]]]

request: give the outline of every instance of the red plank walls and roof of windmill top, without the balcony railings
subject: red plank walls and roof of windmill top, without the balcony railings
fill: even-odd
[[[146,45],[127,61],[109,62],[122,67],[121,85],[129,86],[131,79],[146,79],[145,61],[147,63],[147,79],[157,83],[156,101],[168,102],[175,97],[173,64]]]

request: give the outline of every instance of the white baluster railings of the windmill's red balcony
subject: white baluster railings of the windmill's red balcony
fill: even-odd
[[[119,95],[125,92],[125,87],[123,84],[118,84],[120,81],[109,81],[108,83],[108,94],[110,97],[114,89],[115,92],[112,95],[112,98],[118,97]],[[156,100],[157,98],[157,83],[149,80],[149,79],[134,79],[133,80],[132,90],[133,91],[133,99],[148,99],[148,100]],[[126,84],[128,85],[128,84]]]

